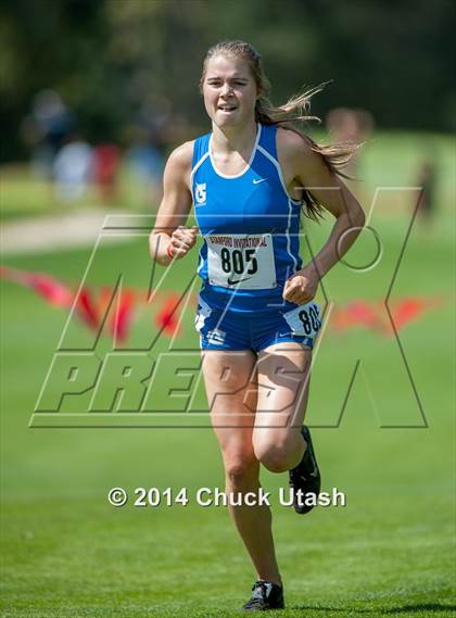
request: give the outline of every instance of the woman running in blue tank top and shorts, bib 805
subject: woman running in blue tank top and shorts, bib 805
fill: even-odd
[[[297,513],[311,510],[320,474],[303,419],[319,279],[349,250],[364,213],[340,178],[347,146],[319,147],[283,123],[308,119],[308,94],[274,108],[259,55],[243,41],[207,52],[201,77],[212,133],[169,156],[150,238],[166,266],[197,241],[182,226],[191,205],[204,243],[197,314],[211,418],[220,444],[230,516],[257,573],[244,609],[284,607],[269,506],[259,500],[259,464],[289,471]],[[335,218],[320,252],[303,266],[300,212]]]

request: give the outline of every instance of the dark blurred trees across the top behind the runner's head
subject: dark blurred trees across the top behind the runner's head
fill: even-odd
[[[262,53],[282,102],[333,79],[314,104],[366,108],[379,126],[455,128],[451,0],[3,0],[0,4],[1,161],[26,155],[21,121],[56,90],[92,142],[122,142],[149,98],[198,129],[206,49],[243,38]]]

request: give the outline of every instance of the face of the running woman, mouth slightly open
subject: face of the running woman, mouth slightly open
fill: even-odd
[[[203,83],[206,112],[218,127],[252,122],[257,98],[249,64],[232,55],[216,55],[207,62]]]

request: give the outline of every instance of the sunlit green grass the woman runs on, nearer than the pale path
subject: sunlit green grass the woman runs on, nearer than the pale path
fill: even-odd
[[[392,301],[439,299],[400,331],[428,427],[394,338],[364,328],[326,331],[307,418],[324,489],[344,491],[347,504],[300,517],[275,501],[288,607],[277,615],[283,617],[436,618],[456,610],[453,217],[445,204],[432,230],[415,225],[398,264],[409,216],[385,212],[378,204],[371,219],[382,243],[379,264],[367,273],[338,265],[325,290],[335,305],[381,302],[392,281]],[[313,248],[328,225],[308,227]],[[350,260],[362,264],[371,252],[367,234]],[[68,249],[4,263],[77,285],[90,254],[91,248]],[[193,253],[176,266],[165,289],[181,289],[195,262]],[[104,247],[90,285],[105,285],[125,264],[134,265],[129,283],[147,289],[145,237]],[[1,616],[238,616],[254,573],[228,513],[194,500],[201,487],[223,488],[211,430],[28,428],[67,315],[14,283],[2,283],[2,299]],[[198,348],[192,312],[183,316],[179,344]],[[87,340],[84,326],[72,328],[76,341]],[[148,338],[150,329],[143,312],[134,340]],[[167,340],[161,344],[165,349]],[[340,418],[357,360],[360,368]],[[166,393],[157,398],[165,404]],[[262,480],[276,495],[288,479],[263,471]],[[106,499],[112,487],[130,495],[138,487],[186,487],[190,504],[135,508],[130,501],[114,508]]]

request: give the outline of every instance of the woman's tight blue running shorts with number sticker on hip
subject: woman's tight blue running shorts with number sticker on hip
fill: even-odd
[[[202,350],[253,350],[294,341],[313,348],[321,327],[319,306],[309,302],[295,308],[239,314],[214,308],[199,298],[194,321]]]

